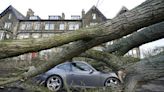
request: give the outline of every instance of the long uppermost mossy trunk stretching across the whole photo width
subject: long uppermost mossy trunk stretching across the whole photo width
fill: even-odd
[[[52,38],[9,40],[0,42],[0,59],[57,47],[72,41],[108,37],[111,41],[128,35],[142,27],[164,20],[164,1],[147,0],[138,7],[119,15],[97,27],[84,28]],[[101,43],[100,43],[101,44]]]

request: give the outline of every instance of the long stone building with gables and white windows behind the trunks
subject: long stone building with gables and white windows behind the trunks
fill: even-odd
[[[26,16],[24,16],[10,5],[0,14],[0,39],[50,37],[54,34],[76,31],[82,27],[93,26],[107,20],[109,19],[95,6],[86,13],[82,10],[81,15],[72,15],[71,19],[65,19],[64,13],[61,15],[50,15],[48,19],[41,19],[39,16],[34,15],[32,9],[29,9]],[[27,58],[36,57],[37,54],[30,53]]]

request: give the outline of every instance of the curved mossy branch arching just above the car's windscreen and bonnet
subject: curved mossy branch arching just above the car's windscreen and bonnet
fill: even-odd
[[[88,50],[85,53],[82,53],[80,56],[92,58],[97,61],[105,63],[109,68],[113,71],[118,71],[121,68],[127,67],[127,65],[131,65],[139,61],[139,59],[135,59],[132,57],[122,57],[122,56],[115,56],[113,54],[96,51],[96,50]]]

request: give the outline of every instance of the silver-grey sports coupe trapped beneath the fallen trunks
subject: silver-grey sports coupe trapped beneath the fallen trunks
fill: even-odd
[[[102,73],[83,61],[65,62],[36,77],[51,91],[68,87],[105,87],[120,83],[115,73]]]

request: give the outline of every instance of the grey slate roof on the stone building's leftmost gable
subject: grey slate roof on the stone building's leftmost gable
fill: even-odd
[[[1,14],[0,14],[0,17],[3,17],[7,12],[9,11],[12,11],[13,14],[15,15],[15,17],[18,19],[18,20],[22,20],[24,19],[24,15],[21,14],[19,11],[17,11],[13,6],[9,6],[7,7]]]

